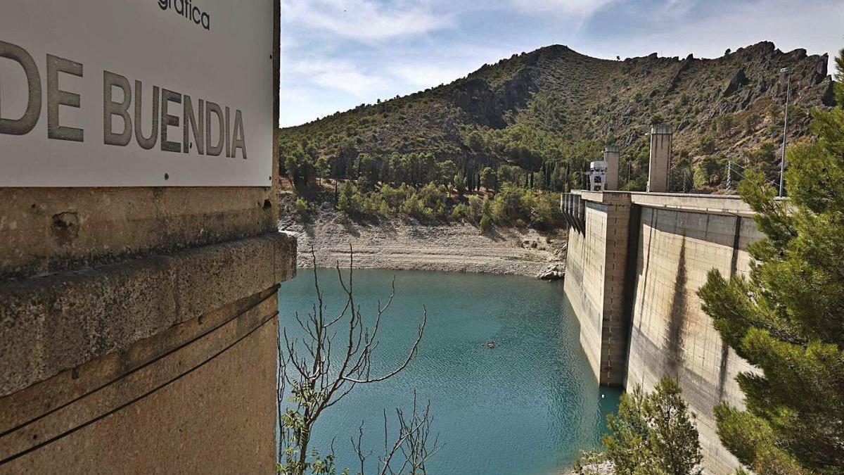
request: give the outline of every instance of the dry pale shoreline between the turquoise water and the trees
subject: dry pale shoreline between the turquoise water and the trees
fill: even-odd
[[[441,270],[497,275],[537,276],[565,259],[565,232],[495,228],[482,235],[467,223],[420,224],[398,218],[353,221],[322,210],[302,223],[279,222],[279,230],[299,238],[297,265],[349,265],[349,244],[358,269]],[[560,264],[561,265],[561,264]]]

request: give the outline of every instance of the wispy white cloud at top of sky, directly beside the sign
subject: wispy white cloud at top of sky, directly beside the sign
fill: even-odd
[[[441,30],[452,25],[452,16],[436,15],[420,1],[283,0],[282,21],[355,40],[381,41]]]

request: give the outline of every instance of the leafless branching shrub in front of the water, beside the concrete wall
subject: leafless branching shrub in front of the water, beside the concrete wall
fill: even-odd
[[[306,318],[300,317],[298,313],[295,315],[295,321],[303,331],[301,338],[291,338],[286,328],[279,336],[279,472],[287,475],[303,475],[308,468],[311,468],[311,472],[322,473],[325,467],[333,464],[333,450],[323,458],[320,458],[318,452],[309,451],[311,431],[317,419],[328,407],[348,396],[357,385],[381,382],[406,369],[419,349],[428,315],[427,308],[423,306],[417,336],[403,363],[385,374],[373,374],[372,358],[379,345],[381,319],[390,308],[395,295],[395,279],[392,281],[387,303],[381,305],[381,301],[378,302],[375,314],[371,317],[371,324],[367,325],[360,305],[355,303],[354,251],[349,246],[348,279],[344,279],[339,263],[336,265],[346,302],[342,311],[328,317],[317,276],[317,256],[313,248],[311,258],[314,264],[317,303],[312,305]],[[290,396],[285,398],[288,387]],[[292,403],[290,406],[293,407],[283,410],[285,401]],[[424,411],[419,412],[414,393],[414,409],[410,419],[406,419],[401,411],[398,411],[398,415],[400,434],[393,455],[397,450],[404,450],[411,455],[408,456],[408,464],[423,470],[411,473],[423,473],[425,460],[432,455],[425,448],[419,447],[420,444],[424,445],[430,432],[429,407],[426,406]],[[360,449],[360,444],[356,447]],[[359,455],[362,455],[360,450],[358,451]],[[435,450],[432,449],[431,452],[433,451]],[[309,461],[309,456],[313,460]]]

